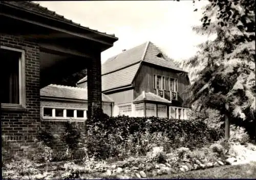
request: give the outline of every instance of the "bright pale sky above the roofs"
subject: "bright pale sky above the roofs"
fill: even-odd
[[[84,27],[115,34],[114,46],[101,53],[101,63],[145,41],[155,43],[175,60],[197,52],[207,37],[192,31],[201,24],[201,7],[208,1],[42,1],[35,2]],[[197,8],[198,11],[194,12]]]

